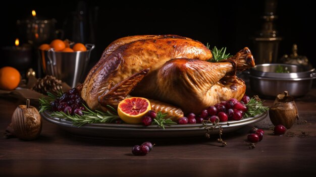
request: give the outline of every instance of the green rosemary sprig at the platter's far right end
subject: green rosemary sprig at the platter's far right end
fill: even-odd
[[[269,107],[262,105],[262,101],[256,96],[251,98],[245,105],[248,110],[244,113],[244,118],[262,114],[269,110]]]

